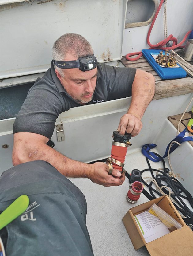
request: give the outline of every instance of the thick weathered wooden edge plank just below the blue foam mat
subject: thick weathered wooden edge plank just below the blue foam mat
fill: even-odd
[[[157,81],[155,85],[153,100],[193,93],[193,78],[191,77]]]

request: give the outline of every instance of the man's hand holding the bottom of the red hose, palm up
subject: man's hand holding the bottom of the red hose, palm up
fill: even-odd
[[[122,185],[125,180],[125,174],[121,174],[119,171],[113,169],[112,175],[109,175],[108,169],[109,168],[106,163],[93,163],[88,178],[92,182],[103,185],[104,187]]]

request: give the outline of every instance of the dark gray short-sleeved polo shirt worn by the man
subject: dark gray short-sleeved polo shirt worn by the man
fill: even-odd
[[[119,68],[97,63],[97,84],[93,99],[88,104],[131,96],[136,69]],[[58,115],[70,108],[81,106],[66,92],[51,62],[51,68],[42,78],[37,78],[16,115],[13,133],[33,132],[48,139],[54,132]]]

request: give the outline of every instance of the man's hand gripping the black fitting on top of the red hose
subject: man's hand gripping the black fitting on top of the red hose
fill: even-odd
[[[133,114],[125,114],[121,117],[117,131],[119,134],[131,133],[132,137],[138,135],[142,129],[142,121]]]

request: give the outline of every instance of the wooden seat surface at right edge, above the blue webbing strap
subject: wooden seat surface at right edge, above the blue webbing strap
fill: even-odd
[[[179,115],[176,115],[176,116],[169,116],[168,117],[168,120],[176,127],[176,129],[178,129],[178,124],[179,124],[181,116],[182,116],[182,114],[179,114]],[[180,122],[180,129],[179,129],[180,132],[182,132],[187,127],[187,124],[188,124],[188,122],[189,122],[189,120],[191,118],[192,118],[192,112],[191,111],[186,112],[184,114],[183,119]],[[192,135],[193,135],[193,133],[189,132],[189,136],[192,136]],[[188,142],[193,147],[193,141],[188,141]]]

